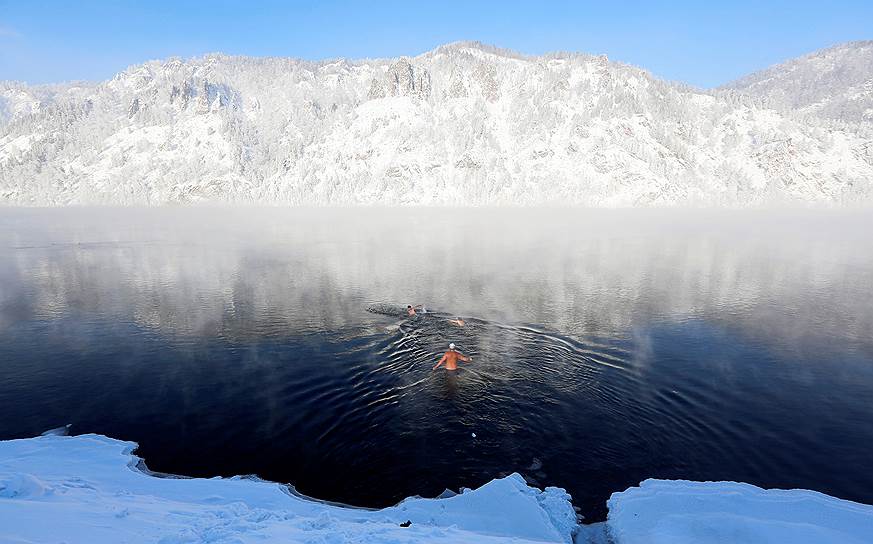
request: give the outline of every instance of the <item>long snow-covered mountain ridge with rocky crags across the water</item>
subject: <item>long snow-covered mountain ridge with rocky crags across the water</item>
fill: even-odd
[[[100,84],[0,84],[0,203],[198,201],[870,203],[873,123],[800,118],[603,56],[476,43],[317,63],[208,55]]]

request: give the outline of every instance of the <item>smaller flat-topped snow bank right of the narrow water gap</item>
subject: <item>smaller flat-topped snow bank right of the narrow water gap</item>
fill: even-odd
[[[646,480],[607,504],[620,544],[873,542],[873,506],[802,489]]]

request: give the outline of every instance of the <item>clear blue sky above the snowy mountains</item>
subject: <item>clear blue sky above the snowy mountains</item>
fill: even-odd
[[[873,39],[873,1],[230,2],[0,0],[0,80],[101,80],[220,51],[306,59],[415,55],[457,40],[583,51],[701,87]]]

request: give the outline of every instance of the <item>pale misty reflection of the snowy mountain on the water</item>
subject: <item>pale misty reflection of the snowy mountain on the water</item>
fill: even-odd
[[[121,213],[8,212],[0,326],[97,312],[269,336],[366,326],[368,304],[392,301],[574,336],[706,319],[762,339],[873,337],[860,217]]]

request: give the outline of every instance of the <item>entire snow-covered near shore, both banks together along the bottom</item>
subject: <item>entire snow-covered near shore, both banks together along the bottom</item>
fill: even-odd
[[[562,489],[517,474],[383,510],[307,500],[248,478],[162,478],[99,435],[0,442],[2,542],[873,542],[873,507],[803,490],[647,480],[580,526]],[[406,522],[411,522],[407,524]],[[408,525],[404,527],[403,525]]]

